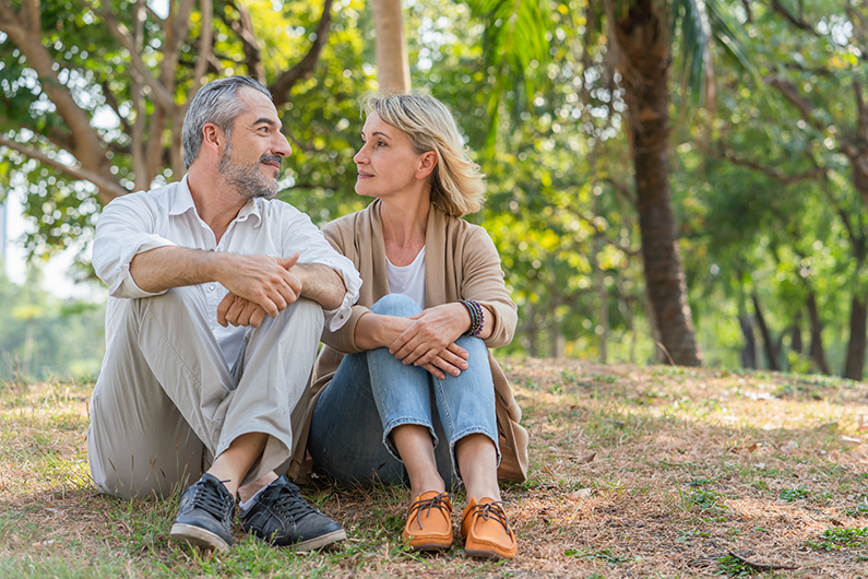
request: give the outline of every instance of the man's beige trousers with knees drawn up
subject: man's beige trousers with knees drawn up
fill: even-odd
[[[270,436],[243,483],[288,468],[323,327],[317,303],[299,299],[249,329],[231,369],[195,287],[120,307],[91,400],[87,452],[99,488],[123,498],[183,489],[247,433]]]

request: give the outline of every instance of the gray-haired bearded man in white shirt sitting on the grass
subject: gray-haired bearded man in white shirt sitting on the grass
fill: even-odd
[[[269,201],[292,150],[265,87],[242,76],[203,86],[182,141],[180,182],[119,198],[97,224],[93,263],[111,297],[93,478],[132,497],[201,475],[170,531],[192,545],[229,548],[236,494],[243,530],[274,544],[344,540],[276,473],[323,323],[343,326],[361,281],[307,215]]]

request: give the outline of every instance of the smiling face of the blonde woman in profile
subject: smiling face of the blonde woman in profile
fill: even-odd
[[[358,194],[378,199],[393,197],[411,190],[419,178],[430,174],[430,170],[420,173],[426,154],[418,155],[409,137],[383,122],[376,113],[365,121],[361,141],[361,149],[353,157],[358,168]]]

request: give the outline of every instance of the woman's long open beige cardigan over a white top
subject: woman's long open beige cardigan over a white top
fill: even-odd
[[[319,393],[331,381],[343,355],[360,352],[353,340],[358,319],[390,293],[379,200],[374,200],[367,209],[329,223],[323,227],[323,233],[337,251],[353,261],[364,283],[349,320],[336,332],[323,332],[325,346],[317,358],[311,387],[306,400],[297,406],[297,411],[306,411],[307,424],[301,430],[294,428],[300,436],[288,474],[296,480],[306,475],[304,460],[310,411]],[[428,213],[425,247],[425,306],[474,299],[495,315],[495,319],[485,320],[485,324],[492,328],[491,335],[485,340],[486,345],[497,347],[508,344],[518,322],[518,308],[503,284],[500,257],[488,233],[478,225],[450,217],[432,205]],[[502,456],[498,478],[522,482],[527,477],[527,430],[519,424],[522,411],[512,397],[507,376],[490,353],[488,362],[495,381]],[[301,418],[300,412],[293,422],[298,418]]]

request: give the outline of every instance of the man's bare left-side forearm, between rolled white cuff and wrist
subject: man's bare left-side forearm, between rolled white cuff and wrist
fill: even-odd
[[[213,251],[158,247],[135,256],[130,262],[130,275],[135,285],[156,294],[171,287],[216,281],[219,257]]]

